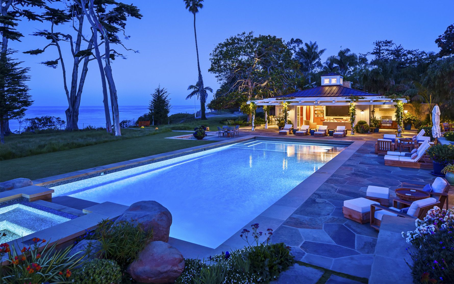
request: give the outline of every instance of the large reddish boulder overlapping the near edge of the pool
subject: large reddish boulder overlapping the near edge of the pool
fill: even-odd
[[[163,205],[156,201],[139,201],[126,209],[118,217],[118,221],[129,221],[141,224],[146,231],[153,230],[153,241],[167,242],[169,240],[172,214]]]

